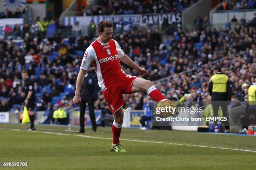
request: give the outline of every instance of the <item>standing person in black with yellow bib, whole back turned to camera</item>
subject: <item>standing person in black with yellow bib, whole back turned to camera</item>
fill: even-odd
[[[210,78],[208,91],[212,96],[213,115],[218,117],[218,110],[221,107],[223,116],[227,117],[228,102],[231,99],[230,81],[227,75],[221,73],[221,67],[215,66],[214,75]],[[215,122],[217,125],[217,121]],[[224,122],[225,132],[229,130],[228,120]]]

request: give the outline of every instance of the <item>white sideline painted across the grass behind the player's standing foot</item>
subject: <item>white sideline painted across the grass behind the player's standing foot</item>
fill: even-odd
[[[8,128],[0,128],[0,129],[8,129]],[[21,131],[20,129],[8,129],[8,130],[15,130]],[[54,132],[44,132],[44,131],[29,131],[33,133],[46,133],[46,134],[54,134],[54,135],[67,135],[71,136],[72,134],[66,133],[54,133]],[[87,135],[72,135],[84,138],[94,138],[94,139],[108,139],[113,140],[112,138],[102,138],[102,137],[95,137],[95,136],[87,136]],[[191,144],[179,144],[179,143],[164,143],[164,142],[155,142],[155,141],[145,141],[145,140],[131,140],[131,139],[120,139],[124,141],[132,141],[132,142],[144,142],[144,143],[159,143],[159,144],[169,144],[169,145],[180,145],[180,146],[192,146],[192,147],[202,147],[202,148],[215,148],[215,149],[223,149],[223,150],[236,150],[236,151],[243,151],[243,152],[253,152],[256,153],[256,150],[244,150],[244,149],[235,149],[235,148],[223,148],[223,147],[215,147],[215,146],[203,146],[203,145],[191,145]]]

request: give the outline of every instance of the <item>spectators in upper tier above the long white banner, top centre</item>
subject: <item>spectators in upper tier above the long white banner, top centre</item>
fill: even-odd
[[[197,0],[101,0],[96,7],[84,8],[82,16],[123,15],[147,13],[176,13],[194,4]]]

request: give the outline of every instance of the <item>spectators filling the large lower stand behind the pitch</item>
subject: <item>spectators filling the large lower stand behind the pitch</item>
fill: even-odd
[[[129,32],[117,31],[113,39],[119,42],[133,61],[148,70],[144,78],[155,82],[172,76],[155,82],[156,87],[170,100],[179,100],[182,96],[188,100],[207,99],[210,96],[207,92],[208,81],[216,64],[221,65],[230,76],[233,97],[246,100],[246,89],[256,77],[255,29],[252,27],[255,25],[249,26],[245,21],[238,23],[235,28],[216,30],[210,27],[207,18],[205,20],[193,30],[178,29],[171,37],[164,39],[156,25],[152,27],[153,30],[146,31],[141,25],[135,25]],[[51,24],[56,25],[56,32],[65,27],[76,31],[71,25],[64,26],[61,22]],[[37,110],[52,109],[58,100],[65,109],[76,107],[71,100],[74,81],[84,50],[95,37],[83,37],[77,32],[76,37],[73,34],[69,39],[63,39],[56,33],[43,40],[41,30],[34,33],[32,27],[23,26],[23,41],[20,43],[5,39],[0,41],[0,111],[12,107],[19,110],[20,105],[23,107],[25,96],[20,75],[23,69],[28,70],[35,82]],[[126,73],[139,76],[136,70],[123,63],[121,65]],[[93,67],[90,71],[94,72]],[[143,93],[124,95],[124,107],[142,109],[146,96]],[[105,106],[102,92],[99,92],[95,107],[108,112]]]

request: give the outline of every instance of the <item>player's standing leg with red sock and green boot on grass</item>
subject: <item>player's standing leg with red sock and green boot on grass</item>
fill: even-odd
[[[113,122],[113,125],[112,125],[113,145],[112,145],[110,151],[126,152],[122,148],[122,145],[120,144],[120,140],[119,140],[121,130],[122,130],[122,124],[123,124],[123,108],[121,107],[113,115],[114,115],[114,122]]]

